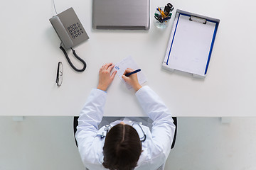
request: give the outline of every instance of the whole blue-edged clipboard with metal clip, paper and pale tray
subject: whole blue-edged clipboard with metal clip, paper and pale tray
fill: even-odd
[[[177,9],[162,67],[206,77],[219,23],[219,19]]]

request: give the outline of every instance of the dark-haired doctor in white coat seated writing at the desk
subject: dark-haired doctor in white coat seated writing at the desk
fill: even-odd
[[[135,96],[144,112],[154,121],[151,130],[128,118],[98,129],[107,88],[117,73],[110,74],[113,67],[114,64],[108,63],[100,68],[97,89],[90,92],[78,118],[75,137],[82,162],[90,170],[164,169],[176,127],[161,98],[149,86],[141,86],[137,74],[122,78],[136,91]],[[124,74],[132,71],[127,69]]]

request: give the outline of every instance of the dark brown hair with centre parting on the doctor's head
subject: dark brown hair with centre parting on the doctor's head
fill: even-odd
[[[103,166],[111,170],[131,170],[137,166],[142,142],[130,125],[117,124],[107,133]]]

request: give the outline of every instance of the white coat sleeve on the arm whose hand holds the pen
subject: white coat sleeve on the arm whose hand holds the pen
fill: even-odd
[[[159,152],[164,153],[167,159],[176,128],[171,113],[161,98],[149,86],[143,86],[139,89],[136,96],[143,110],[153,120],[151,135],[154,145]]]

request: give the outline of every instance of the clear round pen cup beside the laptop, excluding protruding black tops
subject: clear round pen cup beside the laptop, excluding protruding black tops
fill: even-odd
[[[161,11],[164,13],[164,7],[159,7]],[[154,13],[154,25],[157,28],[166,28],[169,24],[169,21],[171,20],[171,12],[164,16],[163,13],[161,13],[158,8],[156,8],[156,11]],[[164,13],[165,14],[165,13]]]

